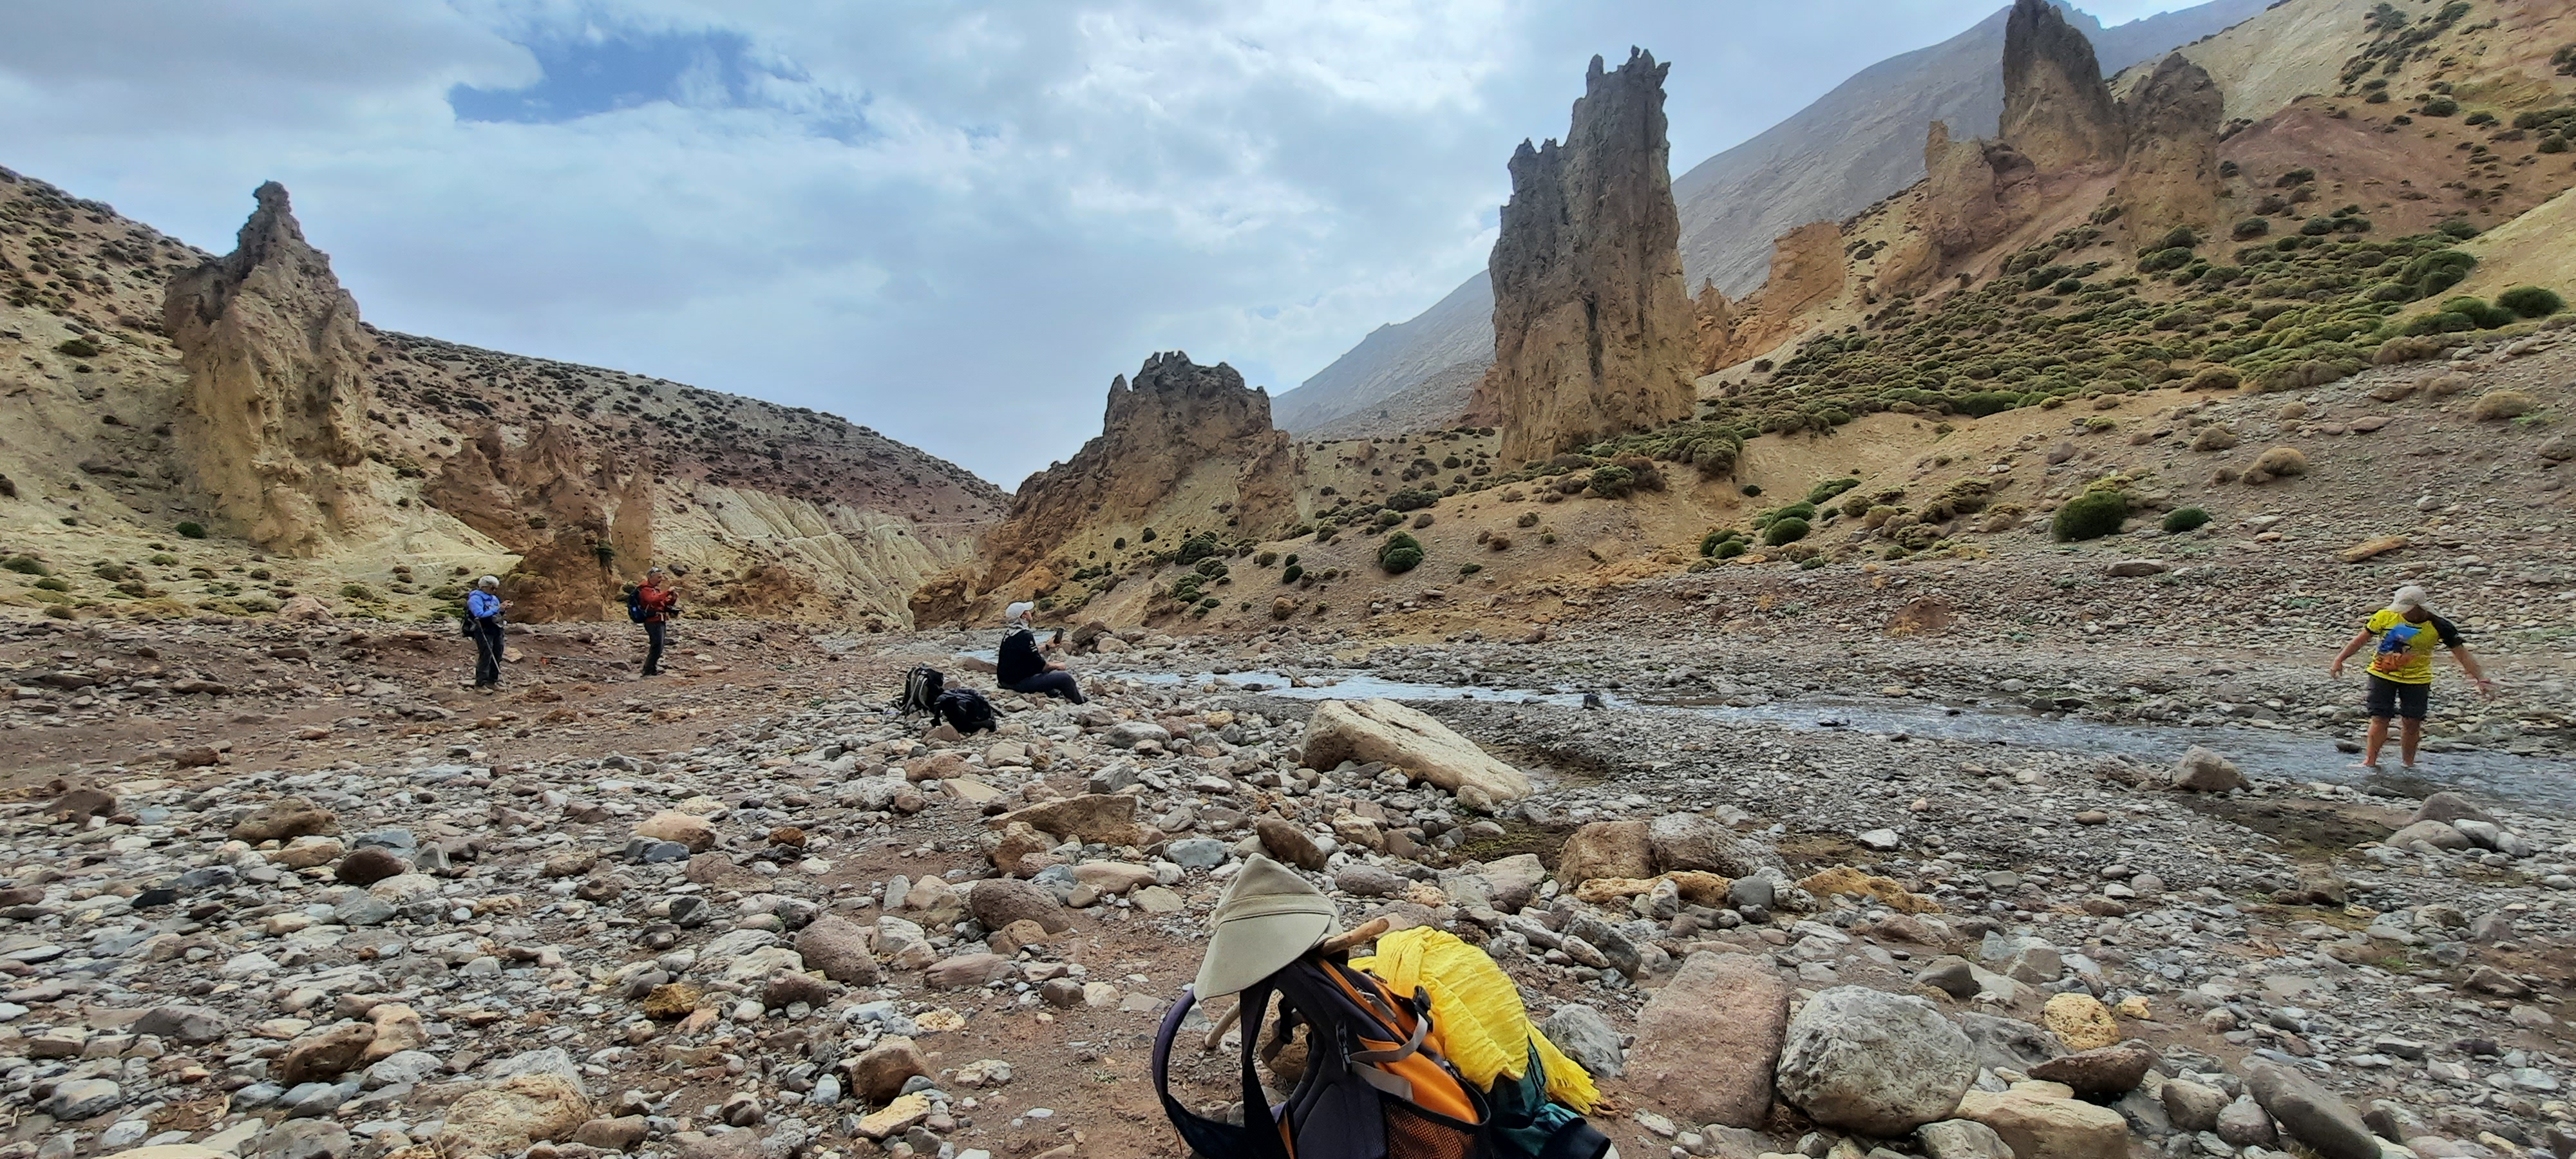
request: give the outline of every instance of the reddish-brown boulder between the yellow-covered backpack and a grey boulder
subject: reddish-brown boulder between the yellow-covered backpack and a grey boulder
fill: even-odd
[[[1767,958],[1692,953],[1636,1015],[1631,1089],[1692,1123],[1762,1126],[1790,989]]]

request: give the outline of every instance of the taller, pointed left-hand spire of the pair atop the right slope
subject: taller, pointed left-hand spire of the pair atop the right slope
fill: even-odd
[[[2115,165],[2125,152],[2092,41],[2048,0],[2014,0],[2004,23],[2002,139],[2043,173]]]

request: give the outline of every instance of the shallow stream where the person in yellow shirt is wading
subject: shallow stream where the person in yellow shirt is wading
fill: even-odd
[[[1206,685],[1224,680],[1236,690],[1283,695],[1298,701],[1489,701],[1489,703],[1548,703],[1582,706],[1579,690],[1525,690],[1476,685],[1422,685],[1386,680],[1378,675],[1327,677],[1321,688],[1296,688],[1278,672],[1113,672],[1123,680],[1149,685]],[[2020,706],[1945,706],[1935,701],[1875,701],[1875,698],[1798,698],[1759,706],[1713,703],[1659,703],[1602,693],[1610,708],[1649,713],[1690,713],[1716,721],[1785,731],[1865,731],[1906,734],[1924,739],[1950,739],[1971,744],[1996,744],[2007,749],[2099,752],[2138,757],[2164,765],[2192,744],[2226,755],[2246,775],[2285,780],[2326,780],[2380,791],[2393,796],[2427,796],[2439,788],[2458,788],[2522,809],[2555,816],[2576,814],[2576,760],[2519,757],[2501,749],[2455,747],[2450,752],[2424,752],[2414,778],[2398,773],[2396,742],[2383,755],[2383,773],[2357,770],[2357,757],[2334,747],[2334,734],[2311,729],[2262,729],[2251,724],[2182,726],[2182,724],[2110,724],[2081,716],[2035,713]]]

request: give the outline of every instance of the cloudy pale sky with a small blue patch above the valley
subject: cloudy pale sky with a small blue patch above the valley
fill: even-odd
[[[216,252],[276,178],[381,327],[1015,487],[1151,350],[1278,394],[1437,301],[1592,54],[1674,62],[1687,170],[1999,5],[33,0],[0,165]]]

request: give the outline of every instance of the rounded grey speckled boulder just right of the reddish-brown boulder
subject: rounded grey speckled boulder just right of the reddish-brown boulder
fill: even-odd
[[[1868,986],[1808,999],[1788,1025],[1777,1066],[1780,1097],[1816,1123],[1870,1136],[1950,1118],[1973,1079],[1968,1035],[1932,1002]]]

